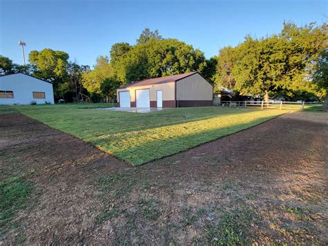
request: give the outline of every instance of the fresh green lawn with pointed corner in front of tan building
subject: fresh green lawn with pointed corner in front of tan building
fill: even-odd
[[[286,112],[194,107],[136,114],[86,109],[88,106],[29,105],[15,108],[134,165],[188,150]],[[5,111],[5,107],[0,107],[1,110]]]

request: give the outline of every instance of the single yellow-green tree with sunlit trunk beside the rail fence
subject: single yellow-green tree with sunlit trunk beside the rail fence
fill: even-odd
[[[267,101],[269,91],[280,89],[285,58],[280,42],[283,40],[276,35],[265,39],[246,37],[246,41],[237,47],[231,71],[236,91],[244,95],[265,94]]]

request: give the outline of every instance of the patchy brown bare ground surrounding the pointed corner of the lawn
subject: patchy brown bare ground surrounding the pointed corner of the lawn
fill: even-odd
[[[21,114],[0,129],[1,179],[33,183],[4,244],[328,243],[328,114],[285,114],[139,167]]]

